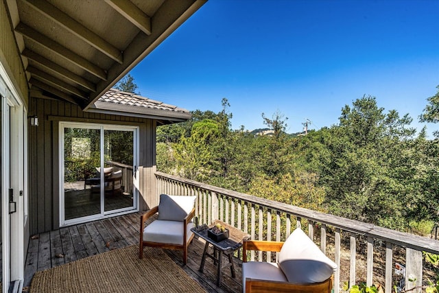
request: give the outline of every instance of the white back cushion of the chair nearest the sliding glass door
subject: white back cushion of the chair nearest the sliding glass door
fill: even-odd
[[[158,220],[183,222],[195,206],[196,196],[160,195],[158,204]]]

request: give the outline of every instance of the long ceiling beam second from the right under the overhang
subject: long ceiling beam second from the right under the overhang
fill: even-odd
[[[103,54],[112,60],[115,60],[119,64],[123,63],[122,52],[119,51],[119,49],[110,45],[110,43],[108,43],[106,40],[91,30],[88,30],[88,28],[84,27],[84,25],[78,23],[78,21],[75,21],[54,5],[51,5],[49,2],[43,0],[27,0],[27,3],[32,5],[34,9],[43,13],[49,19],[64,27],[66,30],[69,30],[69,32],[78,38],[84,40],[84,42],[88,43],[88,45],[95,47],[97,50],[101,51]]]

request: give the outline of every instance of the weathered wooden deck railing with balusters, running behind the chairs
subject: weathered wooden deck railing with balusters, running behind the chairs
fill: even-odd
[[[367,269],[366,276],[359,279],[365,277],[366,285],[370,286],[378,279],[381,284],[384,283],[385,292],[392,292],[393,285],[399,285],[393,276],[394,263],[399,262],[405,263],[405,290],[421,292],[424,270],[422,252],[439,254],[439,241],[428,237],[241,194],[162,172],[156,172],[156,179],[157,196],[198,196],[195,215],[200,218],[200,223],[219,219],[249,233],[252,239],[273,241],[285,241],[293,228],[301,227],[340,268],[334,275],[334,284],[338,284],[334,286],[335,293],[340,292],[344,281],[348,281],[350,286],[361,281],[357,280],[357,267],[361,259],[364,259]],[[357,248],[360,248],[358,253]],[[379,251],[382,255],[375,256],[374,261],[374,255]],[[250,257],[251,260],[273,261],[276,254],[260,253],[256,256],[252,252]],[[348,279],[340,279],[341,271],[349,276]]]

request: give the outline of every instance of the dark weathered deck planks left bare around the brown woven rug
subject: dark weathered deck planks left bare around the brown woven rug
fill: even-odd
[[[141,213],[131,213],[33,235],[27,251],[24,286],[30,285],[34,273],[39,270],[61,266],[111,249],[139,244],[140,215]],[[192,279],[200,283],[206,292],[241,292],[241,261],[234,259],[235,279],[231,277],[229,269],[224,269],[222,283],[218,288],[215,285],[216,268],[211,259],[206,259],[204,272],[198,272],[203,249],[202,239],[194,238],[189,246],[187,266],[183,266],[182,252],[165,252]]]

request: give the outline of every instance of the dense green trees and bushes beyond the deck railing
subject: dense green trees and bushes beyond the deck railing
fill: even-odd
[[[428,101],[439,109],[439,94]],[[338,125],[292,137],[281,113],[262,114],[272,135],[232,130],[227,99],[222,106],[159,128],[178,139],[158,137],[158,169],[401,231],[438,222],[439,142],[416,134],[409,115],[364,96],[342,108]],[[423,119],[434,113],[427,106]]]

